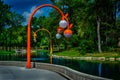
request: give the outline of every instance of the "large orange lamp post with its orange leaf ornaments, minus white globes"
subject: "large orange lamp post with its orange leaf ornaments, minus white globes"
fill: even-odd
[[[64,15],[64,13],[58,7],[56,7],[54,5],[51,5],[51,4],[44,4],[44,5],[41,5],[41,6],[38,6],[37,8],[35,8],[34,11],[31,13],[30,18],[28,20],[28,29],[27,29],[27,63],[26,63],[26,68],[31,68],[31,59],[30,59],[31,58],[31,54],[30,54],[30,50],[31,50],[31,45],[30,45],[30,40],[31,39],[30,38],[31,37],[30,37],[30,33],[31,33],[32,17],[40,8],[43,8],[43,7],[52,7],[54,9],[56,9],[60,13],[60,15],[61,15],[61,20],[65,20],[67,22],[67,29],[72,28],[72,24],[70,24],[68,19],[67,19],[68,14]],[[67,31],[65,34],[69,34],[68,32],[69,31]],[[58,33],[59,33],[59,31],[58,31]],[[71,35],[71,33],[70,33],[70,35]]]

